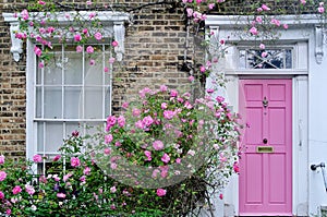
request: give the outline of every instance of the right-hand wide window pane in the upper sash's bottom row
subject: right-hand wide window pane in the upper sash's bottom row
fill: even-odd
[[[85,87],[85,118],[102,118],[102,88]]]

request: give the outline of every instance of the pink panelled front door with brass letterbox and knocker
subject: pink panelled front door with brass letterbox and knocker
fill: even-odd
[[[240,216],[292,215],[292,80],[241,80]]]

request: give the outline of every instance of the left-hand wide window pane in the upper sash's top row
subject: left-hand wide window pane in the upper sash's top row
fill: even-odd
[[[61,57],[52,60],[44,68],[45,84],[61,84],[62,80],[62,59]]]

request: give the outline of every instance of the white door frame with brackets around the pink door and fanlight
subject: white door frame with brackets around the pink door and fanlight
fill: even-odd
[[[291,16],[286,17],[291,26],[282,34],[279,43],[282,45],[295,45],[294,62],[292,70],[238,70],[238,47],[231,46],[226,53],[225,75],[227,79],[225,93],[227,100],[233,110],[239,110],[239,80],[240,77],[283,79],[292,77],[292,213],[298,216],[308,216],[308,53],[315,55],[319,61],[319,32],[315,24],[317,20],[310,16],[302,25],[292,28]],[[293,22],[293,20],[292,20]],[[306,22],[306,23],[305,23]],[[229,38],[230,41],[239,41],[233,34],[233,19],[230,16],[208,16],[206,25],[210,31],[218,33],[219,38]],[[319,31],[319,29],[318,29]],[[256,41],[257,43],[257,41]],[[247,41],[251,45],[251,41]],[[230,183],[223,192],[225,210],[219,216],[239,215],[239,178],[233,174]]]

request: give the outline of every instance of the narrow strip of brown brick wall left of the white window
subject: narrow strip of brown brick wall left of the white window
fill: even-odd
[[[0,153],[20,157],[25,156],[25,61],[23,55],[23,61],[14,62],[10,47],[9,24],[0,15]]]

